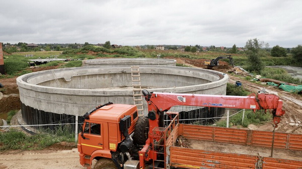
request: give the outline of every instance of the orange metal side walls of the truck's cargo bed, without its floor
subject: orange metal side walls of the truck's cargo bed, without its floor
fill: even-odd
[[[302,169],[302,157],[301,160],[289,160],[172,146],[176,138],[183,135],[187,139],[270,147],[272,132],[191,124],[178,125],[167,139],[170,166],[181,168]],[[302,134],[276,132],[274,147],[302,150]]]

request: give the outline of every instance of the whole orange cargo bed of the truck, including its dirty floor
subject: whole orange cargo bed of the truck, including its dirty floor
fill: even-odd
[[[192,124],[172,128],[167,130],[167,167],[302,168],[302,134],[275,132],[274,153],[269,157],[270,131]],[[176,146],[180,135],[189,140],[190,148]]]

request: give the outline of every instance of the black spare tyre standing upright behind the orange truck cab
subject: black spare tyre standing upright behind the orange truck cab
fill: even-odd
[[[136,144],[144,145],[149,132],[149,120],[147,117],[139,117],[137,119],[135,128],[134,128],[134,135],[133,141]]]

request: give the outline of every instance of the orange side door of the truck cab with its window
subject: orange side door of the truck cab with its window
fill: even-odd
[[[82,140],[82,151],[85,154],[92,154],[93,151],[104,149],[103,146],[103,123],[85,122],[84,139]]]

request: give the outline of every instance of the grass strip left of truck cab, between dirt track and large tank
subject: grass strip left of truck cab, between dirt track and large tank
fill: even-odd
[[[58,127],[56,132],[43,132],[36,135],[26,135],[16,130],[0,133],[0,150],[43,149],[62,141],[74,142],[74,133],[70,132],[71,127],[70,125],[66,125],[63,128]]]

